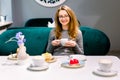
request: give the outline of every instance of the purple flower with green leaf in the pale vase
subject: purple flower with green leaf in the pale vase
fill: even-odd
[[[10,38],[5,43],[11,42],[11,41],[15,41],[15,42],[17,42],[18,45],[24,44],[24,42],[26,41],[26,39],[24,39],[24,37],[25,36],[22,34],[22,32],[18,32],[18,33],[16,33],[15,37]]]

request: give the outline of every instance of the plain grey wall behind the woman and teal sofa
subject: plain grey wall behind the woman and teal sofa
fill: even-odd
[[[120,0],[66,0],[82,25],[102,30],[111,42],[111,50],[120,50]],[[58,8],[47,8],[35,0],[12,0],[13,27],[24,26],[30,18],[54,17]]]

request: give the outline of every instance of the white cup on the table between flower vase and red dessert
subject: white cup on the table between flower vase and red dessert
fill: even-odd
[[[42,56],[34,56],[32,58],[33,66],[40,67],[45,64],[45,59]]]

